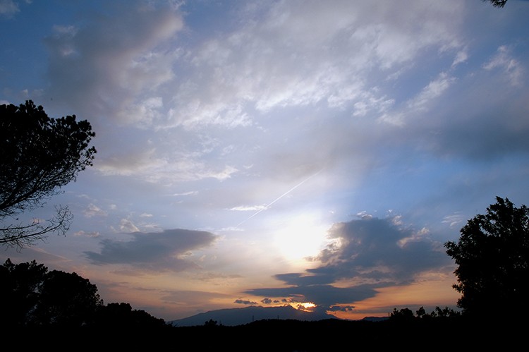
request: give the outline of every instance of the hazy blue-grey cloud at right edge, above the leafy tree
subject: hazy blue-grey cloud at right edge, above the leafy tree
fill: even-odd
[[[399,138],[408,138],[408,142],[443,158],[491,162],[513,153],[528,156],[526,93],[506,86],[501,78],[492,78],[495,84],[490,80],[485,84],[486,75],[476,73],[473,78],[460,80],[430,111],[428,119],[412,119],[408,131]],[[410,135],[415,137],[410,139]]]

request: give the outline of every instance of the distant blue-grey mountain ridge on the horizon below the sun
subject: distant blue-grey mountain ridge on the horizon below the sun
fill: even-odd
[[[209,312],[199,313],[191,317],[186,317],[179,320],[171,320],[168,323],[175,327],[193,327],[197,325],[204,325],[205,322],[213,320],[219,325],[236,326],[265,319],[315,321],[338,318],[325,312],[305,312],[303,310],[293,308],[290,305],[283,307],[262,307],[253,305],[246,308],[210,310]]]

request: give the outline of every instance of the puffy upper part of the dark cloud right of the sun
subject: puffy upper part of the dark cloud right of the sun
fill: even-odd
[[[322,251],[323,265],[308,272],[335,280],[356,277],[402,284],[412,281],[415,274],[449,264],[440,243],[393,221],[371,218],[335,224],[329,237],[341,245]]]

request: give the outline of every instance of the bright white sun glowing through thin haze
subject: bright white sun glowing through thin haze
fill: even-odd
[[[327,242],[328,226],[319,218],[300,214],[281,221],[274,232],[274,245],[287,260],[303,260],[320,253]]]

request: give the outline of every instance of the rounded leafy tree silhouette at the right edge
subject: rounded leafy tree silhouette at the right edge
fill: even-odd
[[[497,197],[461,229],[458,242],[444,244],[458,267],[458,307],[468,316],[529,312],[529,210]],[[494,312],[494,306],[503,311]],[[500,309],[500,308],[498,308]]]

